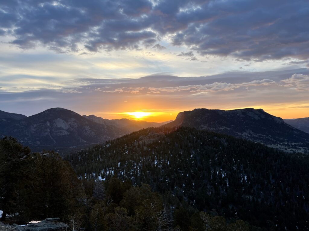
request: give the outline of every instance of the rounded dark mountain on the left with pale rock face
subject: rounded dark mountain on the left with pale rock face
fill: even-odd
[[[1,135],[13,136],[36,151],[83,147],[124,134],[114,126],[95,123],[74,111],[50,108],[21,120],[2,123]]]

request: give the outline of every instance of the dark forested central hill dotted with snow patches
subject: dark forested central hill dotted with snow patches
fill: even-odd
[[[307,156],[182,127],[133,132],[68,159],[81,178],[130,178],[266,230],[309,228]]]

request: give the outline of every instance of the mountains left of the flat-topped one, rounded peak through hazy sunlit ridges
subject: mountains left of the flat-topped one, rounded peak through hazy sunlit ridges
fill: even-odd
[[[50,108],[29,117],[0,112],[0,135],[13,136],[33,151],[53,149],[70,152],[142,128],[159,127],[163,124],[128,119],[107,120],[94,115],[81,116],[60,107]]]

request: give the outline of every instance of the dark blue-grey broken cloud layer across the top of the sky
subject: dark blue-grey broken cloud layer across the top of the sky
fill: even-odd
[[[200,55],[262,61],[309,58],[307,0],[6,0],[0,35],[22,48],[57,52],[158,49],[173,45]]]

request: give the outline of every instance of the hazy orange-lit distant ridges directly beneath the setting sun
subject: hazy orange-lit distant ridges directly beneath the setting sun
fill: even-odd
[[[108,120],[108,119],[103,119],[102,117],[98,117],[95,115],[83,115],[83,117],[89,120],[92,120],[93,122],[99,123],[99,124],[115,126],[117,128],[120,128],[125,133],[138,131],[143,128],[160,127],[164,124],[171,122],[171,121],[167,121],[163,123],[156,123],[156,122],[129,120],[129,119]]]

